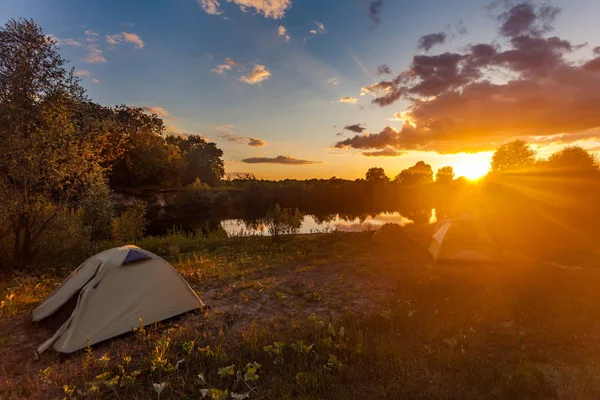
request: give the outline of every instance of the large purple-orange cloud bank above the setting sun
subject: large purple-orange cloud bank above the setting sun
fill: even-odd
[[[572,61],[579,45],[545,35],[557,14],[553,7],[519,4],[499,17],[499,35],[508,40],[415,55],[394,79],[361,91],[382,107],[407,101],[402,129],[335,146],[456,153],[493,150],[515,137],[534,143],[551,135],[562,135],[561,143],[600,137],[600,47],[593,48],[595,58]]]

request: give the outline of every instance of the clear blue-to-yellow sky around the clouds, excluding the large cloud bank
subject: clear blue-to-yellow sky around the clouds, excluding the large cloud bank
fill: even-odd
[[[408,100],[379,107],[371,104],[372,97],[360,96],[361,88],[381,79],[379,65],[388,65],[392,76],[409,67],[420,52],[421,36],[447,33],[436,53],[496,40],[499,23],[486,7],[488,1],[384,0],[377,26],[369,18],[369,1],[289,0],[289,7],[277,8],[286,1],[221,0],[222,13],[215,15],[195,0],[3,0],[0,20],[34,18],[45,33],[58,38],[61,54],[82,74],[91,99],[105,105],[162,107],[169,129],[216,141],[225,151],[228,172],[357,178],[370,166],[394,175],[420,159],[434,168],[449,164],[459,170],[461,162],[463,169],[469,160],[487,162],[489,153],[408,151],[399,157],[365,157],[333,145],[355,135],[346,131],[336,136],[345,125],[362,123],[372,133],[388,125],[402,127],[401,121],[390,119],[409,106]],[[562,12],[553,34],[574,43],[600,37],[597,3],[555,1]],[[240,4],[258,8],[244,11]],[[269,4],[282,18],[261,13]],[[280,26],[285,35],[278,34]],[[459,33],[461,26],[468,33]],[[100,56],[86,62],[93,60],[93,51]],[[227,58],[236,64],[223,74],[214,72]],[[254,84],[242,81],[255,66],[270,75]],[[357,104],[339,101],[346,96]],[[245,138],[266,145],[249,146]],[[277,156],[318,163],[241,161]]]

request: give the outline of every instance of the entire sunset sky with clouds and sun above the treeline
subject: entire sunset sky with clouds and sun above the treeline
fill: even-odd
[[[103,105],[199,134],[228,173],[485,172],[515,138],[600,149],[600,2],[2,0]]]

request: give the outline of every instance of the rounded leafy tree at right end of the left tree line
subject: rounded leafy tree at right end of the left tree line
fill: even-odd
[[[216,186],[225,176],[223,150],[215,143],[209,143],[199,135],[168,136],[167,143],[181,152],[184,161],[182,183],[191,184],[200,178],[202,182]]]

